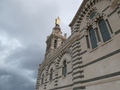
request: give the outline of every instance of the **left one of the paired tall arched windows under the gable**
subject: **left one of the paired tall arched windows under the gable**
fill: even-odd
[[[93,28],[90,28],[89,34],[90,34],[91,46],[92,46],[92,49],[94,49],[97,47],[97,40],[95,36],[95,31]]]

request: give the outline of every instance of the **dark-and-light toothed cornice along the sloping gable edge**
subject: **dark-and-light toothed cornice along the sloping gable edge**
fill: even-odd
[[[72,22],[69,24],[69,26],[72,27],[73,25],[75,25],[76,28],[74,28],[74,29],[79,29],[80,24],[81,24],[84,16],[86,15],[86,13],[88,13],[88,11],[91,9],[91,7],[93,7],[95,4],[97,4],[100,1],[104,1],[104,0],[84,0],[82,2],[81,6],[79,7],[77,13],[75,14]]]

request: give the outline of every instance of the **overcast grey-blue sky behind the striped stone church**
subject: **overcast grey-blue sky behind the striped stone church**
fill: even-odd
[[[46,37],[60,17],[70,35],[82,0],[0,0],[0,90],[35,90]]]

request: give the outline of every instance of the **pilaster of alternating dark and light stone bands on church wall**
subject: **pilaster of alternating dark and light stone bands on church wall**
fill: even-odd
[[[84,71],[80,68],[82,65],[82,56],[81,56],[81,44],[80,39],[76,39],[72,43],[72,63],[73,63],[73,90],[83,90],[84,86],[82,86],[82,83],[77,83],[81,81],[82,78],[84,78]]]

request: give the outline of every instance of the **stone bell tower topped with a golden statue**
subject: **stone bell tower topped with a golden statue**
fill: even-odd
[[[51,35],[47,37],[46,54],[45,54],[46,57],[50,56],[51,53],[53,53],[66,40],[66,34],[62,36],[59,23],[60,23],[60,19],[58,17],[55,19],[55,27],[53,28]]]

